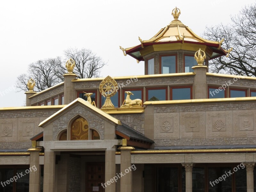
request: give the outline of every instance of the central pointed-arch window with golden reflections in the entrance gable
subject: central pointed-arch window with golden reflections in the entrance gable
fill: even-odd
[[[88,122],[79,117],[71,125],[71,140],[88,140],[89,126]]]

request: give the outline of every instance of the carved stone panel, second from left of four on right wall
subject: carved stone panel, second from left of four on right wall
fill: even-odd
[[[205,112],[180,113],[180,138],[205,137]]]

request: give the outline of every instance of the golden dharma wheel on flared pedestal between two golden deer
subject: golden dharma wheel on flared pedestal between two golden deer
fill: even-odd
[[[115,108],[112,104],[110,97],[114,96],[118,90],[118,85],[110,76],[107,76],[103,81],[100,83],[100,94],[106,97],[105,103],[102,108]]]

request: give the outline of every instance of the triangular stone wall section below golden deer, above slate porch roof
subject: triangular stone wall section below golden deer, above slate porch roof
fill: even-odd
[[[136,131],[144,134],[144,113],[111,114],[111,116],[127,124]]]

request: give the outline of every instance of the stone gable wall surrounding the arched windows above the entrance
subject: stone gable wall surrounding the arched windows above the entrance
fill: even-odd
[[[88,120],[89,127],[97,129],[100,132],[101,139],[104,139],[104,120],[81,105],[77,105],[53,121],[53,140],[56,140],[58,132],[62,129],[66,129],[68,121],[77,114],[85,116]]]

